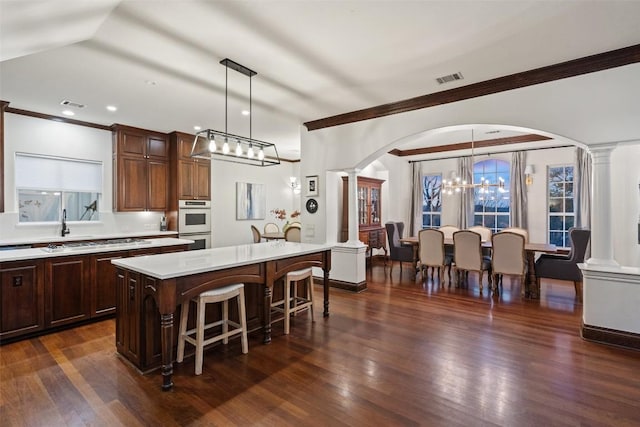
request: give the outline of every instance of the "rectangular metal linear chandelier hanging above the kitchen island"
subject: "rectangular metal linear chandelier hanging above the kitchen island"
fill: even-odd
[[[222,160],[254,166],[273,166],[280,164],[275,144],[252,138],[252,99],[251,77],[257,73],[229,58],[220,61],[225,69],[224,82],[224,132],[204,129],[196,133],[191,146],[191,157]],[[249,137],[233,135],[227,132],[229,68],[249,77]]]

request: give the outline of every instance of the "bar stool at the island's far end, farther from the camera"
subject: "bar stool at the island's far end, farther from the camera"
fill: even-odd
[[[298,283],[304,280],[304,296],[298,295]],[[291,288],[293,287],[293,296]],[[295,316],[298,311],[309,309],[311,321],[313,318],[313,270],[311,267],[302,270],[290,271],[284,278],[283,299],[271,303],[272,310],[283,313],[283,318],[273,320],[271,323],[284,319],[284,334],[289,334],[290,316]]]

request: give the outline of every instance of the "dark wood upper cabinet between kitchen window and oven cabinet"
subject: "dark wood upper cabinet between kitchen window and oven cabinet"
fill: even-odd
[[[113,125],[114,210],[161,211],[169,207],[169,138]]]

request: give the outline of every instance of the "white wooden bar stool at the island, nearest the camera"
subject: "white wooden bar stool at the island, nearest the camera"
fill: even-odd
[[[238,315],[240,317],[240,324],[229,320],[229,300],[237,298],[238,301]],[[196,347],[196,375],[202,374],[202,353],[205,345],[209,345],[213,342],[220,341],[224,344],[229,342],[229,337],[242,334],[242,353],[249,352],[249,345],[247,342],[247,318],[244,307],[244,284],[238,283],[234,285],[224,286],[222,288],[212,289],[206,291],[193,298],[191,301],[195,302],[198,306],[197,320],[195,329],[187,331],[187,321],[189,318],[189,301],[185,301],[182,304],[182,312],[180,313],[180,335],[178,336],[178,363],[184,359],[184,343],[185,341]],[[205,307],[210,303],[222,303],[222,320],[217,322],[206,324],[204,323]],[[222,333],[220,335],[213,336],[207,340],[204,339],[204,331],[215,326],[222,325]],[[229,326],[233,326],[233,329],[229,330]],[[195,339],[190,337],[195,333]]]

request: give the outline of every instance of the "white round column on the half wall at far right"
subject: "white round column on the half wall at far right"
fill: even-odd
[[[591,194],[591,258],[587,265],[611,265],[613,259],[613,227],[611,204],[611,152],[616,144],[589,147],[592,157]]]

